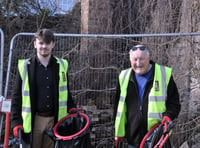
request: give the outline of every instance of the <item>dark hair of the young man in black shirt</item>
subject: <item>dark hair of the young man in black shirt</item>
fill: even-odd
[[[45,43],[49,44],[55,41],[54,34],[50,29],[40,29],[35,33],[34,36],[36,39],[42,39]]]

